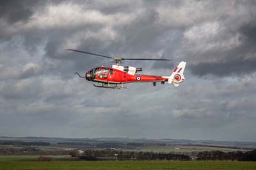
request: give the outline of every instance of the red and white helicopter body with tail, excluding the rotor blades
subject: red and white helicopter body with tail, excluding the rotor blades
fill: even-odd
[[[141,70],[141,68],[135,68],[132,66],[113,65],[112,68],[100,66],[86,72],[84,78],[87,81],[99,82],[100,84],[94,84],[94,86],[100,88],[122,89],[125,87],[116,85],[123,85],[129,82],[153,82],[153,85],[156,86],[156,82],[164,84],[166,81],[177,87],[185,80],[183,75],[185,66],[186,62],[180,62],[170,76],[136,74],[136,72],[138,72],[136,70]]]

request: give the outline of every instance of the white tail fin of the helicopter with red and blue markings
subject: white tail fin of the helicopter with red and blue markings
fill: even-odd
[[[169,84],[173,84],[173,86],[178,87],[181,82],[185,80],[183,75],[185,70],[186,62],[181,61],[179,65],[173,70],[171,76],[168,79]]]

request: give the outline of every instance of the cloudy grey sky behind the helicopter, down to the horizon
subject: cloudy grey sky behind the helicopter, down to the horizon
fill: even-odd
[[[186,81],[94,88],[84,73],[126,58]],[[0,135],[256,141],[255,1],[1,1]]]

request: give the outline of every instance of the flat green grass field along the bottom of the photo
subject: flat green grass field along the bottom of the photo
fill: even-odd
[[[122,169],[183,169],[183,170],[255,170],[256,162],[227,162],[227,161],[97,161],[97,162],[86,162],[86,161],[56,161],[56,162],[0,162],[1,170],[15,170],[15,169],[26,169],[26,170],[82,170],[82,169],[111,169],[111,170],[122,170]]]

